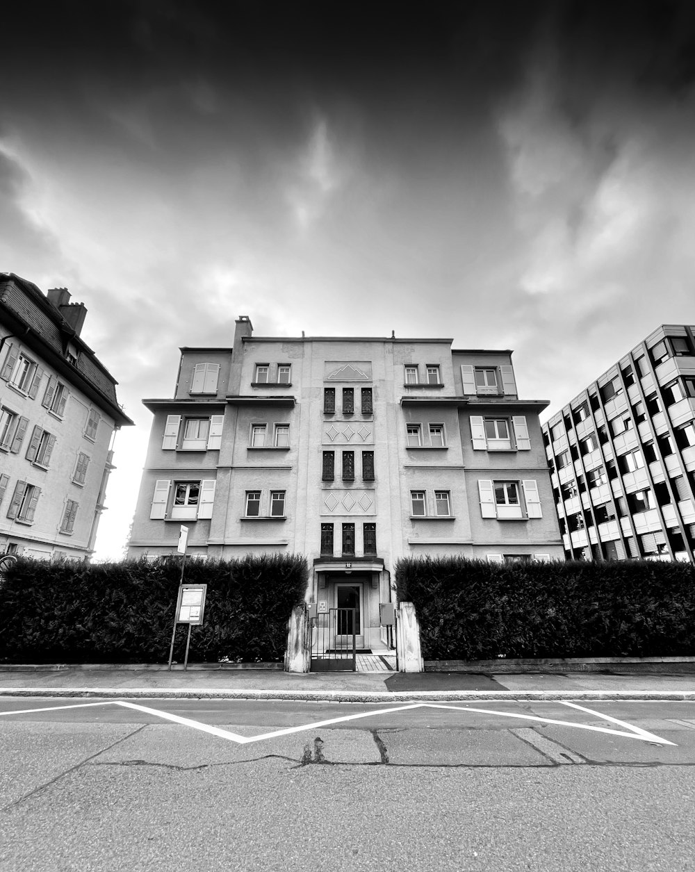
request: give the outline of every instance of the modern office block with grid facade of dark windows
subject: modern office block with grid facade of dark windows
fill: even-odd
[[[543,425],[568,559],[692,561],[693,330],[654,330]]]

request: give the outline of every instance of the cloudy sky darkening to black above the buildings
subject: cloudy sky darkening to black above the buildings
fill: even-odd
[[[451,337],[556,412],[693,324],[695,3],[181,0],[3,13],[0,270],[67,287],[136,426],[183,345]]]

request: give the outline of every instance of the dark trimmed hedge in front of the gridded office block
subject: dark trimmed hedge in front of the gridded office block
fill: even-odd
[[[404,559],[426,660],[695,654],[695,570],[651,561]]]

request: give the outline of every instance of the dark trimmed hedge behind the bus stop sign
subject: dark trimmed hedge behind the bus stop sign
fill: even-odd
[[[187,560],[183,581],[208,585],[189,662],[282,660],[287,622],[303,602],[301,555]],[[181,560],[47,563],[19,558],[0,582],[0,662],[167,663]],[[187,625],[176,631],[183,661]]]

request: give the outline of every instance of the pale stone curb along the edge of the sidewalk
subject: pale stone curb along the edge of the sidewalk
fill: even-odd
[[[695,691],[224,691],[211,689],[112,687],[13,687],[0,689],[0,698],[107,698],[107,699],[256,699],[330,703],[385,702],[514,702],[516,700],[673,700],[695,701]]]

